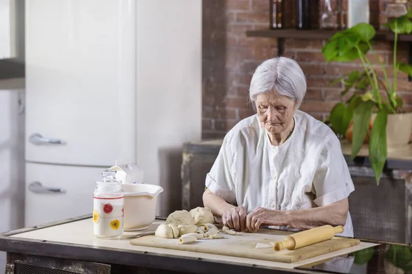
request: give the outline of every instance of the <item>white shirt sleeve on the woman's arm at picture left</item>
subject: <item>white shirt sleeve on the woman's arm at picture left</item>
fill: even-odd
[[[226,136],[222,142],[222,147],[211,170],[206,175],[206,187],[211,192],[225,199],[229,203],[236,203],[236,190],[231,174],[232,155],[230,150],[230,140]]]

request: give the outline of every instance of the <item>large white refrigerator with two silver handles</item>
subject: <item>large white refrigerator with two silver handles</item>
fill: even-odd
[[[165,188],[159,208],[180,187],[159,151],[201,138],[201,1],[172,2],[25,1],[26,227],[91,213],[120,158]]]

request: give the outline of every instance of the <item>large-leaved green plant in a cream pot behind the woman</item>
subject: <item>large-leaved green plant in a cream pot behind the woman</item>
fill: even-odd
[[[356,91],[345,102],[334,106],[329,121],[337,134],[345,136],[348,131],[352,133],[352,160],[363,143],[369,144],[369,161],[377,184],[387,159],[387,146],[406,145],[412,131],[412,112],[407,113],[402,109],[402,99],[397,93],[398,71],[412,76],[412,66],[397,60],[398,36],[411,34],[410,18],[412,12],[408,9],[407,14],[393,18],[387,23],[394,36],[392,81],[388,78],[387,68],[382,63],[378,67],[384,77],[380,79],[376,67],[367,57],[368,52],[376,55],[372,45],[375,29],[367,23],[359,23],[334,34],[322,48],[326,62],[360,60],[362,63],[361,71],[352,71],[334,81],[343,83],[342,96],[347,96],[347,92],[352,89]]]

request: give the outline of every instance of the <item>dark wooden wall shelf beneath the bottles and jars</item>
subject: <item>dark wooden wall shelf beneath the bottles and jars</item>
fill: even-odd
[[[258,29],[247,31],[248,37],[266,38],[295,38],[295,39],[328,39],[336,32],[334,30],[323,29]],[[391,32],[377,31],[375,40],[393,41],[394,35]],[[412,42],[412,35],[400,35],[399,41]]]

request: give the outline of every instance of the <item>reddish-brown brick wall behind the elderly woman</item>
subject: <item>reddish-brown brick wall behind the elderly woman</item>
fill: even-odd
[[[370,0],[371,25],[385,21],[385,0]],[[379,3],[378,3],[379,2]],[[251,75],[260,62],[277,56],[277,40],[248,38],[246,31],[269,25],[268,0],[203,0],[203,138],[222,138],[240,119],[254,114],[248,103]],[[288,10],[290,10],[288,8]],[[292,25],[291,21],[287,25]],[[361,66],[325,64],[321,53],[324,40],[286,39],[284,55],[295,58],[307,77],[308,90],[301,110],[325,119],[341,100],[340,84],[330,81]],[[389,64],[391,42],[375,45],[379,59]],[[407,62],[407,45],[400,42],[398,58]],[[371,57],[375,63],[378,60]],[[390,73],[389,73],[390,74]],[[389,76],[390,77],[390,76]],[[399,94],[412,110],[412,83],[398,76]]]

